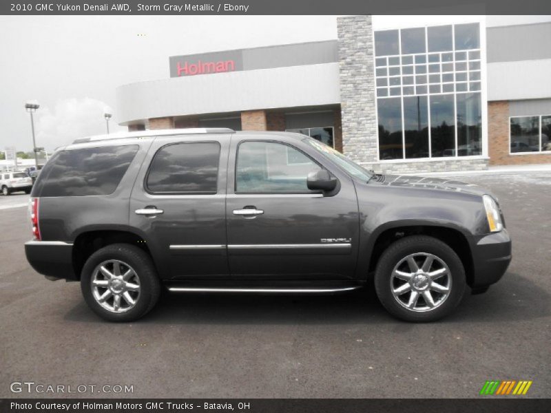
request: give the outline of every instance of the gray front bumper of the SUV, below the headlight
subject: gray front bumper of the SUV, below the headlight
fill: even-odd
[[[506,229],[480,237],[472,248],[472,288],[498,282],[511,262],[511,239]]]

